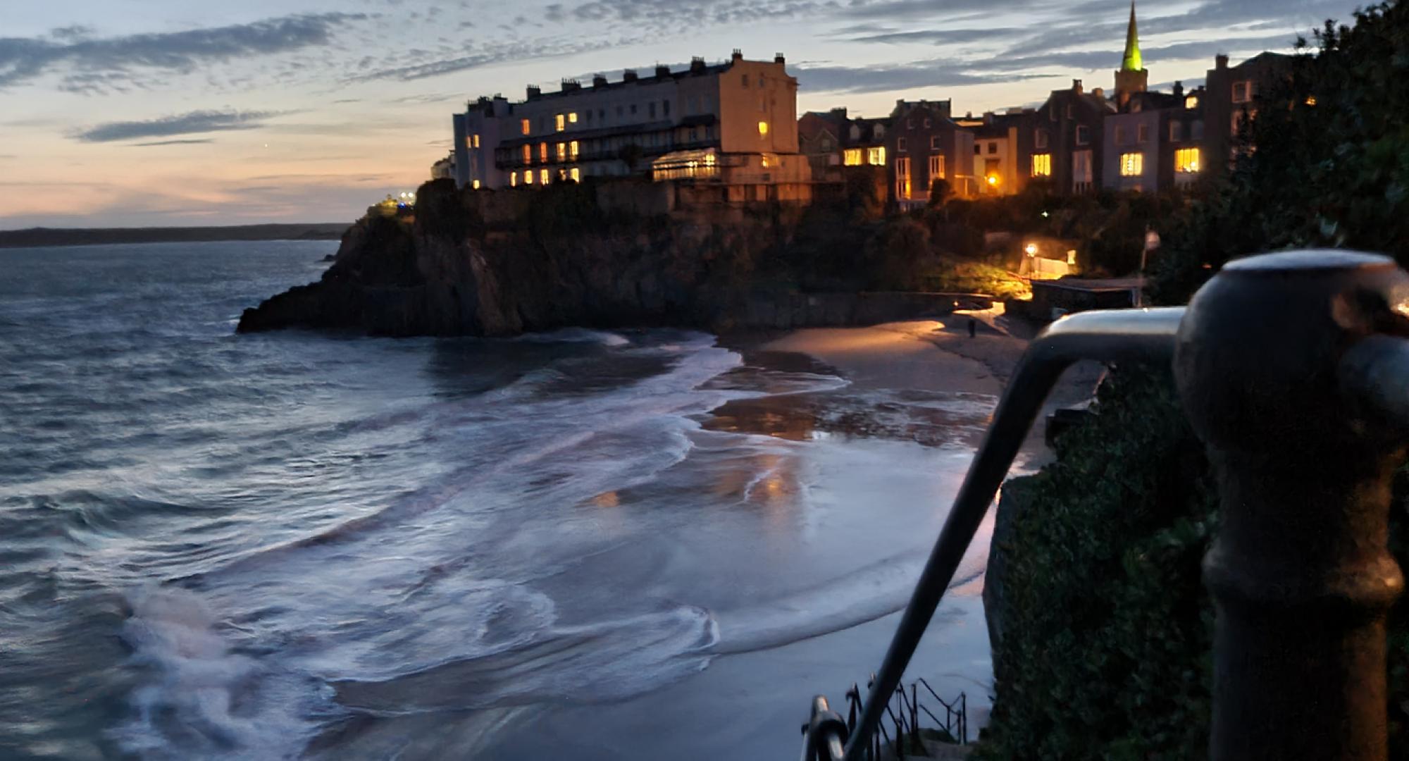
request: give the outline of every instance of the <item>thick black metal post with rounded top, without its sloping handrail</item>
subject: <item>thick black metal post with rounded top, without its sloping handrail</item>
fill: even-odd
[[[1203,576],[1217,609],[1213,761],[1384,761],[1395,426],[1337,382],[1347,348],[1409,334],[1391,259],[1236,261],[1193,297],[1175,378],[1222,510]],[[1399,428],[1402,431],[1402,428]]]

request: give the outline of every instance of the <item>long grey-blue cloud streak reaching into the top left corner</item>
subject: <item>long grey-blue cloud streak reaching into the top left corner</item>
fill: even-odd
[[[327,45],[337,27],[364,18],[366,14],[324,13],[107,38],[90,38],[83,27],[55,30],[49,38],[6,37],[0,38],[0,89],[65,72],[61,86],[66,89],[106,92],[123,82],[135,83],[134,69],[189,73],[206,63]]]

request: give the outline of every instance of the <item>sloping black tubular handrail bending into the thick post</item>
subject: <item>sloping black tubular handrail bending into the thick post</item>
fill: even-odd
[[[905,667],[920,644],[945,589],[954,581],[954,572],[974,540],[974,533],[983,521],[1027,430],[1062,371],[1082,359],[1168,362],[1182,317],[1182,307],[1084,311],[1057,320],[1029,344],[993,413],[983,444],[964,476],[940,538],[924,564],[886,650],[881,672],[871,685],[861,720],[852,727],[847,743],[847,761],[861,761],[889,702],[883,696],[889,696],[900,683]]]

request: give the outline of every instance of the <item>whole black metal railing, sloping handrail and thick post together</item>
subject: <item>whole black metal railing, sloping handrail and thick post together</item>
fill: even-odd
[[[1402,337],[1409,273],[1346,251],[1236,261],[1188,309],[1051,324],[999,402],[848,724],[847,761],[876,753],[878,729],[888,736],[889,696],[960,559],[1051,388],[1082,359],[1172,361],[1219,478],[1205,558],[1217,609],[1210,758],[1384,761],[1385,614],[1403,589],[1386,550],[1389,478],[1409,440]]]

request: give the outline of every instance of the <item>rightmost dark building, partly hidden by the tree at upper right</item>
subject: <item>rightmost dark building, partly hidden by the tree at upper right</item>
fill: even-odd
[[[1219,55],[1205,78],[1205,163],[1212,173],[1226,172],[1237,151],[1246,120],[1257,116],[1257,96],[1291,76],[1292,56],[1262,52],[1237,66]]]

